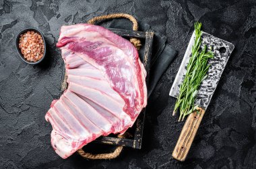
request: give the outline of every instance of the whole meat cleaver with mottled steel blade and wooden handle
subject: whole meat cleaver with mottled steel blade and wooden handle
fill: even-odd
[[[203,80],[203,82],[201,82],[197,93],[197,99],[195,99],[195,105],[198,105],[199,107],[197,111],[191,113],[187,117],[185,125],[181,131],[181,135],[179,136],[178,142],[172,152],[172,157],[179,161],[184,161],[187,157],[195,134],[197,133],[197,129],[199,128],[199,124],[201,123],[201,119],[203,118],[203,115],[212,99],[212,95],[214,95],[214,91],[220,81],[222,72],[228,62],[228,58],[230,57],[232,50],[234,50],[234,45],[230,42],[226,42],[205,32],[203,32],[201,37],[201,46],[206,45],[209,49],[212,46],[214,58],[209,60],[209,64],[211,64],[211,66],[207,73],[208,76]],[[177,76],[172,84],[172,88],[170,89],[169,95],[172,97],[179,97],[179,87],[181,86],[187,71],[186,68],[191,56],[194,41],[195,32],[193,32],[191,36],[189,46],[187,47]]]

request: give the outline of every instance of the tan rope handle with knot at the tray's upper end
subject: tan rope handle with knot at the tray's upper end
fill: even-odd
[[[115,18],[121,18],[121,17],[129,19],[133,23],[133,30],[134,31],[138,30],[137,20],[135,19],[135,17],[127,13],[113,13],[109,15],[101,15],[101,16],[90,19],[87,23],[94,25],[96,21],[103,21],[106,19],[115,19]],[[139,50],[141,46],[140,40],[136,38],[130,38],[130,42],[137,48],[137,50]]]

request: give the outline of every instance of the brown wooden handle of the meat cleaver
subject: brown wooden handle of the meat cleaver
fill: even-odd
[[[199,111],[199,113],[197,113],[197,111]],[[205,113],[205,110],[201,108],[197,108],[197,111],[194,111],[187,117],[181,135],[172,152],[172,157],[181,162],[187,158],[187,154],[189,153],[189,149]]]

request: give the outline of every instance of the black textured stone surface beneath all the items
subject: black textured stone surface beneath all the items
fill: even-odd
[[[125,148],[115,160],[63,160],[44,120],[59,97],[63,61],[55,44],[61,25],[107,13],[130,13],[166,34],[179,56],[148,102],[142,150]],[[168,92],[195,21],[235,46],[185,162],[171,158],[183,123],[172,117]],[[20,60],[15,36],[37,27],[48,43],[36,66]],[[256,1],[0,1],[0,168],[256,168]]]

